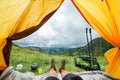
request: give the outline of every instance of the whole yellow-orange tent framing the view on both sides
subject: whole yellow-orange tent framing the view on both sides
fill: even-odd
[[[63,0],[0,0],[0,71],[9,65],[12,40],[40,28]],[[86,21],[115,48],[105,53],[106,72],[120,79],[119,0],[72,0]]]

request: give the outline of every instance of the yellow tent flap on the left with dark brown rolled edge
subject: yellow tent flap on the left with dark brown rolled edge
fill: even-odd
[[[39,29],[63,0],[0,0],[0,70],[9,64],[11,40]]]

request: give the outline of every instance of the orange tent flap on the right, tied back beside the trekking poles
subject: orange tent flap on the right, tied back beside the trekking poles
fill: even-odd
[[[120,4],[119,0],[72,0],[86,21],[115,48],[105,53],[106,72],[120,79]]]

